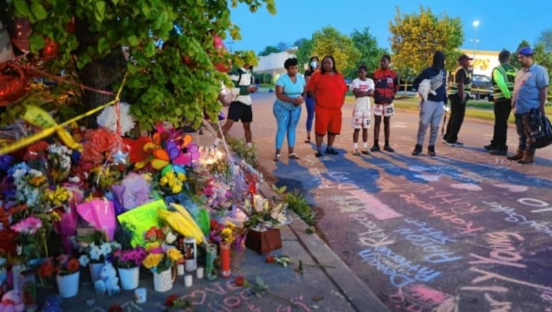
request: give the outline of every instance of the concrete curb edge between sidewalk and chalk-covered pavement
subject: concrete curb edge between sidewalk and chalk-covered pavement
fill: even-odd
[[[259,185],[259,192],[266,198],[279,198],[279,195],[274,193],[272,188],[264,181]],[[318,235],[307,234],[305,232],[308,225],[302,219],[295,215],[293,223],[288,227],[317,264],[335,266],[335,268],[322,268],[322,271],[324,271],[337,289],[341,291],[355,310],[372,312],[389,311],[380,298],[377,298],[377,295],[366,286],[366,283],[362,282],[349,269],[347,264],[331,250],[326,242]]]

